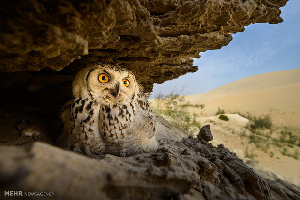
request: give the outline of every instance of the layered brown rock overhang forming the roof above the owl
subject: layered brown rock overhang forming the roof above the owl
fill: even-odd
[[[0,70],[60,71],[115,63],[151,91],[197,71],[191,57],[227,45],[251,23],[282,22],[287,0],[0,2]],[[69,75],[74,75],[68,71]]]

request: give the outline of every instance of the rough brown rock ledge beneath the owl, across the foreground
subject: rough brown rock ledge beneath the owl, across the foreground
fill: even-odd
[[[158,137],[157,152],[130,157],[87,157],[45,142],[34,142],[28,151],[0,146],[5,152],[0,154],[0,193],[54,192],[55,199],[299,198],[297,186],[265,180],[222,144],[214,147],[191,136],[169,140],[163,128]]]

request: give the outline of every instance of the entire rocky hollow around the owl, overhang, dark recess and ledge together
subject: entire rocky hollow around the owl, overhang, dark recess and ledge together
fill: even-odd
[[[195,72],[191,57],[227,45],[251,23],[279,23],[287,0],[1,0],[0,199],[4,191],[55,199],[299,199],[299,188],[257,175],[210,127],[183,137],[164,119],[157,152],[86,157],[53,146],[57,113],[90,62],[126,67],[145,87]],[[20,135],[22,119],[41,140]],[[40,197],[27,197],[40,199]]]

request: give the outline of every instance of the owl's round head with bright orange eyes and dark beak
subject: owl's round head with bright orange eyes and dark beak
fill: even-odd
[[[80,70],[72,87],[75,98],[91,98],[107,105],[133,101],[139,90],[133,73],[102,63],[93,63]]]

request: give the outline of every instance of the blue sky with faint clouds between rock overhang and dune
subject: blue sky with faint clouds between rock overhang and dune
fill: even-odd
[[[300,68],[300,0],[289,0],[281,11],[282,23],[251,24],[244,32],[232,34],[227,46],[201,52],[194,59],[197,72],[154,84],[150,99],[159,92],[181,90],[183,85],[185,94],[193,95],[249,76]]]

